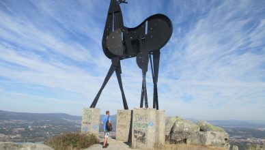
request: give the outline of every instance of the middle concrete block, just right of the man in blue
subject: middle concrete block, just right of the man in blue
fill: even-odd
[[[133,110],[117,110],[116,140],[131,142]]]

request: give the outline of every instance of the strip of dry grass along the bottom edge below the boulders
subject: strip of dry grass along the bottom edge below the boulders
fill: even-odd
[[[165,150],[227,150],[225,148],[221,147],[212,147],[208,145],[187,145],[187,144],[180,144],[180,145],[158,145],[154,147],[152,150],[160,150],[160,149],[165,149]]]

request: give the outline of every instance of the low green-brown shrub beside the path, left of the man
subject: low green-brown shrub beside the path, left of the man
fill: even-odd
[[[91,145],[97,144],[98,137],[94,134],[68,133],[61,134],[44,142],[45,145],[55,150],[60,149],[86,149]]]

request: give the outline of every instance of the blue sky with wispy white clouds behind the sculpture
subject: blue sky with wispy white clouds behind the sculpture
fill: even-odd
[[[107,0],[0,1],[0,110],[66,112],[88,107],[111,60],[101,40]],[[160,109],[195,119],[264,120],[265,1],[128,0],[124,25],[165,14],[173,34],[161,49]],[[141,70],[122,61],[129,108],[138,108]],[[152,76],[147,76],[152,106]],[[115,74],[96,106],[115,114],[122,96]]]

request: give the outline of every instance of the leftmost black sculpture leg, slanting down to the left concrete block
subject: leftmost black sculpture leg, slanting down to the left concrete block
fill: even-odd
[[[98,98],[100,97],[100,94],[101,94],[102,90],[107,85],[107,82],[109,81],[109,78],[111,78],[111,75],[113,74],[113,72],[116,70],[117,65],[115,63],[113,63],[113,62],[114,61],[112,61],[111,67],[109,68],[109,72],[108,72],[107,76],[105,77],[104,82],[103,82],[102,86],[100,87],[100,90],[98,91],[98,94],[96,95],[94,101],[90,105],[90,108],[95,108],[96,107],[96,104],[98,103]]]

